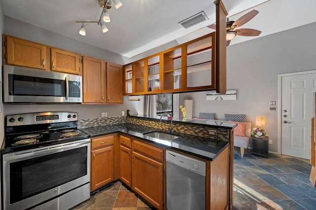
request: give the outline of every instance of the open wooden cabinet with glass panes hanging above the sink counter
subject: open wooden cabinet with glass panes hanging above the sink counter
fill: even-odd
[[[125,65],[124,94],[216,90],[215,35],[213,32]]]

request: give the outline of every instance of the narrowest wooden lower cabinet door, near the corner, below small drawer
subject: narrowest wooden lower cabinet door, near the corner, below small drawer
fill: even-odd
[[[127,186],[131,187],[131,149],[119,146],[119,177]]]

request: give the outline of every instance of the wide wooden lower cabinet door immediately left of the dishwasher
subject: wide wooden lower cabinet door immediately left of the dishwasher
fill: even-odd
[[[163,208],[162,169],[162,163],[133,152],[132,189],[158,209]]]

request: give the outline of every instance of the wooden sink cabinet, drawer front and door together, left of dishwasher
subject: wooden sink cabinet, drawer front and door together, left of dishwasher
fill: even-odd
[[[142,148],[135,149],[137,145],[141,145]],[[137,140],[133,140],[132,149],[132,189],[154,207],[162,210],[164,208],[163,190],[165,189],[163,160],[159,162],[151,156],[156,156],[157,150],[163,154],[163,150]]]

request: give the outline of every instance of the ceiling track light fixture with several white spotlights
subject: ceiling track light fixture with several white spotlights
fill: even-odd
[[[117,9],[122,5],[122,3],[119,0],[113,0],[113,2],[111,0],[99,0],[99,6],[103,8],[99,21],[90,21],[90,20],[76,21],[76,23],[82,23],[82,26],[80,27],[80,30],[79,30],[79,34],[85,35],[84,27],[86,25],[84,25],[84,23],[97,23],[98,25],[101,26],[101,30],[103,33],[106,33],[107,31],[109,31],[109,29],[104,25],[104,23],[101,20],[103,19],[103,21],[106,23],[109,23],[111,21],[108,10],[112,8],[112,3]]]

